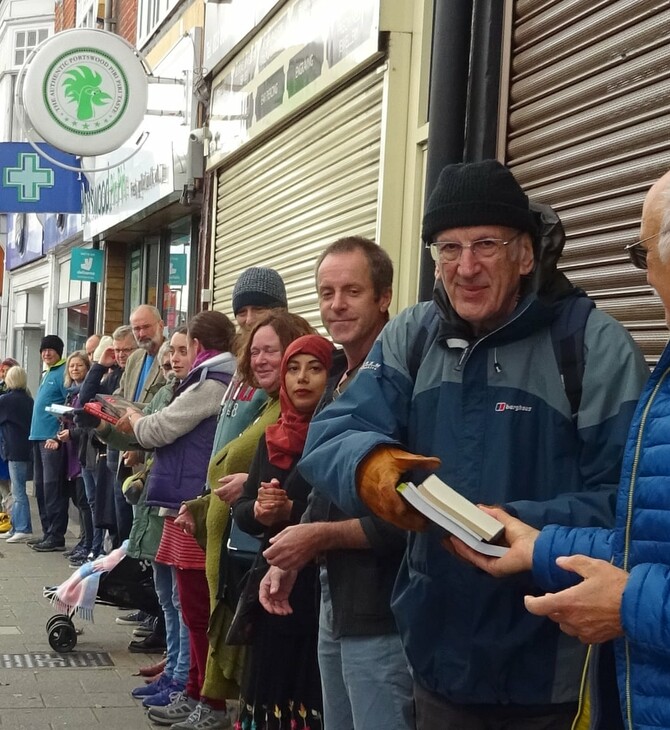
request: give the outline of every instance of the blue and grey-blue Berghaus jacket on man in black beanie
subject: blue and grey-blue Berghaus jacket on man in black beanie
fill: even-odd
[[[405,310],[356,380],[313,421],[300,470],[346,513],[367,513],[356,469],[380,444],[438,456],[445,482],[475,503],[503,505],[536,527],[608,526],[628,426],[649,376],[627,332],[597,309],[584,332],[583,394],[573,419],[550,335],[570,296],[533,291],[497,330],[463,337],[444,297]],[[428,307],[440,331],[415,378],[413,339]],[[421,479],[425,474],[409,475]],[[585,650],[528,613],[530,573],[492,578],[453,557],[439,532],[412,533],[392,606],[413,676],[459,704],[575,701]]]

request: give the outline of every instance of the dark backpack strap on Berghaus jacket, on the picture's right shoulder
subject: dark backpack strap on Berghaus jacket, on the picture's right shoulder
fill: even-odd
[[[586,320],[595,308],[587,296],[571,297],[551,323],[551,342],[565,395],[574,418],[579,412],[584,379],[584,329]]]

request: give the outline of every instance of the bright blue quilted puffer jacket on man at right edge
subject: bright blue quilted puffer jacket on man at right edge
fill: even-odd
[[[533,574],[544,590],[572,585],[559,555],[589,555],[630,573],[623,594],[624,636],[614,640],[618,694],[629,730],[670,728],[670,347],[640,398],[624,452],[613,530],[558,526],[540,533]],[[598,698],[614,693],[589,673],[588,726],[599,722]]]

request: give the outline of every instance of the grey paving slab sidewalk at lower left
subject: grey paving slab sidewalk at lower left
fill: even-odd
[[[39,525],[36,517],[33,524]],[[68,533],[68,547],[76,541]],[[26,666],[25,660],[15,661],[10,656],[55,655],[49,646],[46,622],[56,612],[42,597],[42,589],[62,583],[71,574],[62,553],[36,553],[25,544],[7,545],[0,540],[0,728],[156,728],[130,691],[143,682],[133,676],[138,668],[155,664],[160,656],[127,650],[133,627],[115,623],[123,613],[118,608],[96,605],[93,623],[74,619],[83,634],[71,654],[107,652],[112,666],[37,666],[59,663],[58,659],[42,661],[39,657],[33,666]]]

